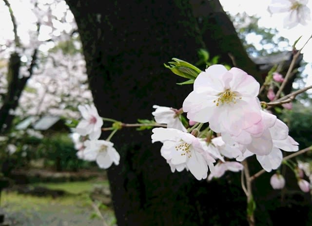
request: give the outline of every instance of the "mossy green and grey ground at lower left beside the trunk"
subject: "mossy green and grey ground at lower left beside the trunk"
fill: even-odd
[[[67,195],[52,198],[22,195],[2,191],[1,208],[11,226],[102,226],[102,220],[92,207],[89,192],[95,185],[108,186],[106,181],[33,184],[50,189],[61,189]],[[116,224],[114,211],[101,205],[101,214],[109,226]]]

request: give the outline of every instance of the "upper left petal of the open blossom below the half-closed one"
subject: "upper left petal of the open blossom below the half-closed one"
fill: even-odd
[[[182,131],[168,128],[154,128],[152,130],[152,143],[156,141],[164,142],[166,140],[180,141]]]

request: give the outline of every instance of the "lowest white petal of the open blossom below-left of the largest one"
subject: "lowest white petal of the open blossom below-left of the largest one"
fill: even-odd
[[[207,178],[208,166],[200,153],[192,153],[191,158],[187,162],[187,167],[197,180]]]

